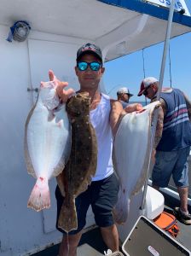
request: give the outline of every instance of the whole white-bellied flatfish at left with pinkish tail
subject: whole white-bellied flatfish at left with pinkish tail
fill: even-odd
[[[54,81],[41,83],[38,100],[26,119],[26,167],[37,178],[27,206],[36,211],[50,207],[49,178],[62,172],[71,150],[66,105],[55,89]]]

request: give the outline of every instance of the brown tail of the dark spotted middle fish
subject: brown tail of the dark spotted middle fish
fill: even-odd
[[[78,218],[74,198],[69,200],[65,199],[63,202],[58,218],[58,227],[66,232],[78,229]]]

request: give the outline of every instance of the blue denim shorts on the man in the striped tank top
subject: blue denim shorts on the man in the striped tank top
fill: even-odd
[[[171,152],[157,151],[152,173],[153,185],[167,187],[172,175],[177,187],[188,187],[189,151],[190,147]]]

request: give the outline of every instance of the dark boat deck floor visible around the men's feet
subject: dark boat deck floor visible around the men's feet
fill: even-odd
[[[177,207],[179,202],[176,199],[171,198],[169,195],[165,195],[165,211],[172,213],[173,208]],[[191,207],[189,207],[189,212],[191,212]],[[176,240],[180,242],[184,247],[191,251],[191,226],[182,224],[178,221],[178,227],[180,233],[178,234]],[[49,247],[48,249],[35,253],[35,256],[57,256],[59,250],[59,245],[54,247]],[[100,256],[104,255],[104,251],[107,250],[106,245],[101,239],[101,233],[98,228],[90,230],[83,234],[81,241],[78,246],[78,256]],[[139,255],[137,255],[139,256]]]

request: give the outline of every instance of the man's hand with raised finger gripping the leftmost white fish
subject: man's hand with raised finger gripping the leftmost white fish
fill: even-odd
[[[70,96],[72,96],[73,93],[75,93],[75,91],[72,88],[64,90],[64,88],[67,87],[68,83],[62,82],[59,79],[57,79],[52,70],[49,70],[49,80],[55,82],[57,95],[59,96],[62,102],[67,102],[67,99]]]

